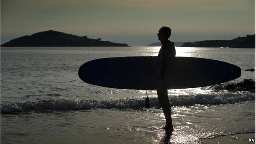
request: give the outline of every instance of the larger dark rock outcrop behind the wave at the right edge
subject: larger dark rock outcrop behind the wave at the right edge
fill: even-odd
[[[215,90],[229,90],[229,91],[250,91],[255,93],[255,81],[252,79],[244,79],[241,82],[232,82],[211,86]]]

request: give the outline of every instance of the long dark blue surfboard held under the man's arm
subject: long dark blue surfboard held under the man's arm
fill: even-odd
[[[159,57],[111,57],[80,66],[81,80],[117,89],[156,89]],[[168,60],[163,78],[167,89],[185,89],[220,84],[239,78],[238,66],[213,59],[175,57]]]

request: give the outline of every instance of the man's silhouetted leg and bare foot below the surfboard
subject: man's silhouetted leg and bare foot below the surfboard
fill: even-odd
[[[160,106],[165,114],[165,129],[166,130],[173,130],[172,121],[171,121],[171,105],[169,103],[167,89],[157,89],[158,99]]]

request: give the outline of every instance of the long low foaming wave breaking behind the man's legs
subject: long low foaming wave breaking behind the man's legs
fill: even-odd
[[[169,101],[173,106],[179,105],[219,105],[234,104],[240,101],[255,100],[255,94],[251,92],[235,92],[220,94],[196,94],[196,95],[179,95],[169,96]],[[150,106],[160,108],[158,97],[150,97]],[[88,110],[93,108],[102,109],[142,109],[145,107],[144,97],[131,98],[110,98],[102,100],[73,99],[59,97],[54,100],[43,101],[25,101],[16,103],[1,104],[1,114],[14,112],[29,111],[46,111],[46,110]]]

